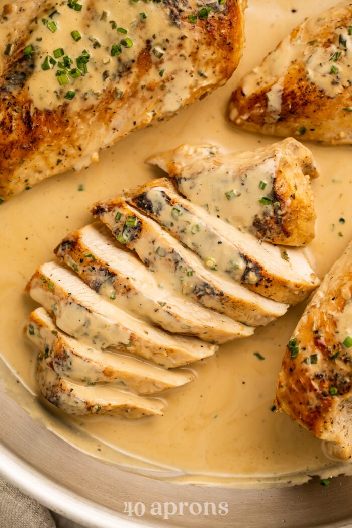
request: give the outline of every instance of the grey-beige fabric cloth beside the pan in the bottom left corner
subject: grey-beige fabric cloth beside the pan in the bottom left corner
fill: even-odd
[[[51,513],[2,479],[0,479],[0,527],[84,528],[61,515]]]

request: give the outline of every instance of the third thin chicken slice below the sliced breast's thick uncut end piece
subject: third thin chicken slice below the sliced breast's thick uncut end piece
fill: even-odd
[[[149,323],[168,332],[225,343],[253,334],[253,328],[177,296],[100,222],[68,235],[56,256],[73,268],[88,286]]]

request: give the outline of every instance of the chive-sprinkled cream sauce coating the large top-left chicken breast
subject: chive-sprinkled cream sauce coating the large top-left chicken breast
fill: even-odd
[[[39,109],[68,100],[73,109],[83,109],[111,88],[120,98],[134,86],[135,63],[149,43],[154,64],[140,89],[149,83],[164,84],[163,109],[174,112],[191,90],[210,82],[214,73],[211,67],[194,72],[189,59],[193,43],[180,40],[182,24],[179,21],[178,27],[168,9],[157,2],[78,0],[71,7],[70,2],[53,2],[31,26],[28,45],[33,49],[34,71],[27,82],[28,95]]]

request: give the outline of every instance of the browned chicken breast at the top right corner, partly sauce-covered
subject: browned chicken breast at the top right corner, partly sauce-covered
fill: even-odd
[[[229,117],[246,130],[352,143],[352,4],[308,18],[247,73]]]

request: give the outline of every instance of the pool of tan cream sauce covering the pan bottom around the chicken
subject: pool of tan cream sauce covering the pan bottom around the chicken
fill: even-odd
[[[36,351],[23,335],[28,313],[36,306],[23,293],[28,278],[40,263],[52,259],[53,248],[67,233],[92,220],[88,209],[94,201],[155,175],[144,165],[148,156],[183,142],[219,145],[230,153],[276,140],[227,124],[224,116],[230,93],[293,26],[333,3],[250,0],[245,53],[224,88],[173,120],[122,140],[87,171],[53,177],[2,204],[1,354],[14,374],[2,368],[6,388],[33,417],[40,417],[79,449],[158,478],[212,485],[280,485],[303,482],[308,474],[328,476],[350,468],[327,459],[322,442],[271,410],[281,359],[302,305],[259,328],[253,337],[224,345],[215,356],[195,364],[195,381],[163,394],[164,416],[141,420],[71,419],[40,403],[34,376]],[[312,181],[318,220],[316,238],[307,251],[322,277],[352,236],[351,148],[307,146],[321,171]],[[24,390],[15,389],[16,378]]]

